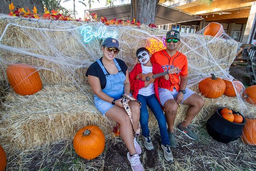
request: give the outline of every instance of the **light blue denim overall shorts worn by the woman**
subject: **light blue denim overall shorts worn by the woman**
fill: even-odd
[[[102,92],[113,97],[114,99],[120,99],[121,95],[124,93],[123,87],[126,77],[121,71],[121,68],[119,67],[116,59],[114,58],[114,62],[118,69],[118,73],[114,75],[110,75],[108,74],[108,72],[106,72],[105,67],[102,65],[99,59],[97,60],[97,62],[99,63],[99,66],[101,67],[106,77],[106,87],[102,90]],[[108,110],[110,110],[114,106],[110,102],[102,100],[96,94],[94,94],[94,103],[96,108],[101,112],[103,116]]]

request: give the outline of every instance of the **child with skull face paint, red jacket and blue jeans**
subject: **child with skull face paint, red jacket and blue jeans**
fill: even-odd
[[[173,161],[173,154],[172,151],[170,151],[166,119],[161,109],[158,95],[158,86],[169,87],[169,75],[156,78],[154,83],[150,83],[150,81],[144,79],[136,79],[139,74],[158,74],[163,72],[160,65],[150,61],[150,52],[148,52],[146,48],[139,48],[136,52],[136,56],[140,63],[137,63],[131,71],[129,79],[131,83],[131,90],[133,91],[133,97],[142,104],[140,108],[140,125],[144,146],[148,150],[154,149],[154,145],[150,137],[150,130],[148,129],[148,106],[158,121],[164,158],[167,161]]]

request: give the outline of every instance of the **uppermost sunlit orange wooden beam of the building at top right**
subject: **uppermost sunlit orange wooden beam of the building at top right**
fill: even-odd
[[[245,7],[251,7],[255,0],[216,0],[211,3],[211,5],[207,6],[205,4],[201,4],[198,6],[190,7],[182,9],[185,12],[198,15],[198,14],[206,14],[206,13],[214,13],[220,11],[227,11],[230,9],[239,9]]]

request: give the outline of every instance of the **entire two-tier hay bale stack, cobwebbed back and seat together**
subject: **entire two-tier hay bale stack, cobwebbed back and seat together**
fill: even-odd
[[[7,86],[1,99],[0,144],[25,149],[72,139],[78,129],[88,124],[98,125],[105,135],[112,135],[116,123],[102,117],[96,110],[85,76],[91,63],[102,56],[100,46],[103,39],[93,38],[84,43],[82,25],[93,29],[104,27],[102,23],[1,19],[0,16],[0,83]],[[124,60],[129,70],[137,62],[135,52],[138,48],[144,47],[152,37],[161,42],[166,34],[145,26],[107,28],[118,34],[121,51],[117,58]],[[181,34],[181,40],[179,50],[188,58],[190,86],[213,69],[219,75],[227,71],[237,49],[236,41],[230,39]],[[28,63],[38,69],[44,84],[41,91],[31,96],[9,91],[6,69],[10,63],[16,62]],[[194,89],[199,93],[197,86]],[[219,106],[239,111],[237,98],[223,95],[218,99],[204,99],[205,106],[193,123],[206,120]],[[179,106],[176,125],[185,117],[187,107]],[[155,129],[157,122],[153,115],[149,124]]]

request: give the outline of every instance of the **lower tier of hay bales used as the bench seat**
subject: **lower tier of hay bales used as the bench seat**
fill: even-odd
[[[197,87],[193,89],[199,93]],[[20,96],[10,91],[5,96],[0,111],[0,144],[14,149],[26,149],[59,140],[70,140],[77,130],[89,124],[98,125],[108,137],[114,136],[112,129],[116,123],[101,116],[92,103],[92,98],[89,86],[45,86],[31,96]],[[193,124],[207,120],[220,106],[239,110],[237,98],[224,95],[218,99],[203,98],[204,108],[193,120]],[[247,104],[247,107],[251,113],[254,112],[252,105]],[[184,119],[187,108],[187,105],[179,106],[175,125]],[[244,114],[247,115],[249,113]],[[157,125],[151,113],[150,129],[156,131]]]

